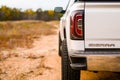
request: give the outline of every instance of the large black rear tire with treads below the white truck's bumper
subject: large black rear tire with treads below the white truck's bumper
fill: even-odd
[[[62,80],[80,80],[80,70],[70,67],[66,40],[62,43]]]

